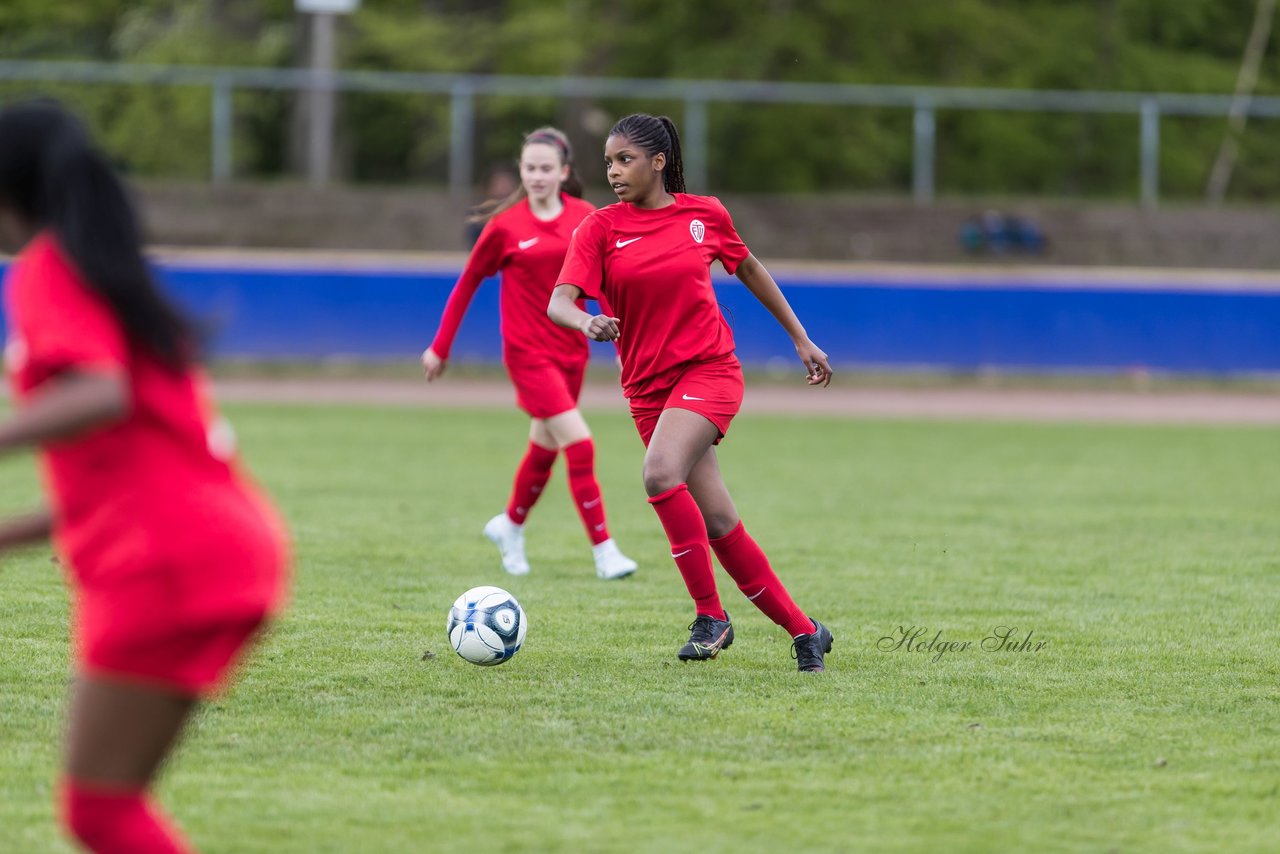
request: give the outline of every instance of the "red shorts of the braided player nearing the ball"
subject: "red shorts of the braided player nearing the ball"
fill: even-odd
[[[719,430],[716,439],[719,444],[742,407],[744,392],[742,365],[733,353],[709,362],[686,362],[660,376],[652,391],[631,397],[631,417],[646,448],[658,419],[668,408],[701,415]]]

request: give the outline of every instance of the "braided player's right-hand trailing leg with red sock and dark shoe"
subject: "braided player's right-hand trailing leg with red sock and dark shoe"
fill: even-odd
[[[716,448],[709,448],[689,472],[689,492],[703,512],[710,547],[737,589],[791,635],[800,670],[820,671],[823,656],[831,652],[831,632],[796,606],[764,551],[746,533],[724,485]]]

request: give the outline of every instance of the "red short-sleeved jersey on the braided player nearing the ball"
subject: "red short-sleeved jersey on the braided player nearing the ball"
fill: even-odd
[[[627,397],[677,365],[733,352],[710,264],[733,273],[750,252],[718,198],[675,198],[657,210],[617,202],[584,219],[556,279],[616,312]]]

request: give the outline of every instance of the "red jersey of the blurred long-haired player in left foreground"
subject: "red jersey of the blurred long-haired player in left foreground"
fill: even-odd
[[[81,580],[96,584],[105,574],[137,571],[143,563],[180,562],[192,548],[218,565],[219,549],[244,536],[243,526],[219,528],[228,519],[251,520],[252,531],[271,529],[283,553],[283,528],[237,476],[229,426],[210,420],[201,378],[166,370],[128,342],[110,307],[50,234],[36,237],[18,257],[4,296],[5,361],[19,401],[68,369],[115,373],[128,383],[123,421],[41,448],[54,538]],[[205,531],[209,526],[218,529]],[[275,576],[255,576],[246,585],[237,567],[220,570],[228,576],[225,589],[206,589],[201,603],[183,603],[187,612],[275,595]],[[178,604],[175,599],[169,607]]]

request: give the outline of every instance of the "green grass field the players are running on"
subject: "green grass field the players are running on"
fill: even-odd
[[[742,419],[730,487],[836,632],[801,676],[723,574],[733,648],[676,661],[691,607],[622,415],[593,424],[641,571],[602,583],[563,463],[531,576],[479,535],[515,412],[229,414],[298,563],[287,618],[160,785],[202,851],[1275,850],[1275,430]],[[0,508],[36,494],[28,460],[0,476]],[[498,668],[444,636],[476,584],[529,615]],[[973,647],[882,649],[900,626]],[[997,626],[1046,645],[980,649]],[[4,557],[0,850],[68,850],[65,631],[47,551]]]

